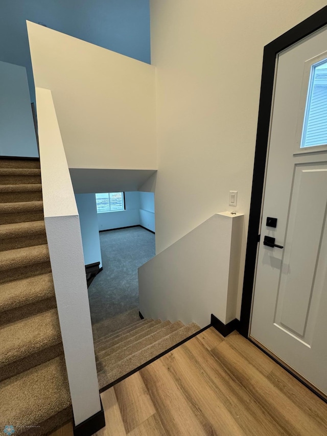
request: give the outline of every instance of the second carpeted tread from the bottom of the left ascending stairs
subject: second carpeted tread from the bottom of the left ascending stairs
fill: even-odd
[[[61,341],[57,309],[0,328],[0,367]]]

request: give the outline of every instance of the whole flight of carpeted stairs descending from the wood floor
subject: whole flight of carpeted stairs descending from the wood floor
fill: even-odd
[[[111,320],[108,320],[111,323]],[[142,319],[95,340],[99,388],[133,371],[200,330],[191,323]]]

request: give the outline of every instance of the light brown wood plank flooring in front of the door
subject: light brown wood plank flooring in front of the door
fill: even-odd
[[[214,328],[101,398],[97,436],[327,434],[326,403],[237,332],[223,338]]]

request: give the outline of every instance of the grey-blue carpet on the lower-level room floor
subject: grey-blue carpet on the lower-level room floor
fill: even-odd
[[[88,288],[94,327],[125,312],[138,312],[137,268],[155,256],[155,236],[142,227],[101,232],[100,244],[103,271]]]

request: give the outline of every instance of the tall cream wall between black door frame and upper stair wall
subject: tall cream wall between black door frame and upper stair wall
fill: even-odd
[[[150,0],[156,66],[158,174],[156,249],[164,250],[215,211],[248,225],[264,45],[325,0]],[[238,316],[245,261],[240,268]]]

